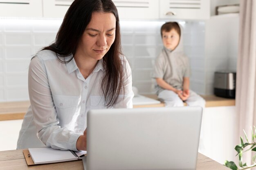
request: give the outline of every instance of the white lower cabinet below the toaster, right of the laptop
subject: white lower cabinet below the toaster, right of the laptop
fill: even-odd
[[[199,152],[224,164],[235,161],[237,136],[235,106],[205,107],[202,117]]]

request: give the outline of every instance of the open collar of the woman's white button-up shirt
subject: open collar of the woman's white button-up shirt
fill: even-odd
[[[73,57],[72,54],[67,57],[67,60],[70,60],[71,57]],[[66,63],[66,67],[67,67],[67,72],[69,74],[74,72],[76,69],[78,69],[74,57],[72,58],[72,60],[69,63]],[[104,68],[103,68],[103,59],[102,58],[98,61],[98,63],[96,65],[96,67],[94,68],[93,72],[99,72],[99,70],[102,70],[103,72],[105,72]]]

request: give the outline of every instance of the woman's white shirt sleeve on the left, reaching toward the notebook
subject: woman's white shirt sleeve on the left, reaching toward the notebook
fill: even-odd
[[[38,57],[34,57],[29,65],[28,87],[33,121],[36,125],[38,138],[47,147],[77,151],[76,141],[81,134],[67,128],[61,128],[58,125],[59,119],[45,65]]]

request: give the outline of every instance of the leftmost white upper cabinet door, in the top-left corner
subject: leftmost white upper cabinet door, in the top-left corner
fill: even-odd
[[[42,0],[0,0],[0,16],[42,17]]]

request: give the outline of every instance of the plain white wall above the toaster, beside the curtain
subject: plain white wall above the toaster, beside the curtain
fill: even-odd
[[[239,14],[212,16],[205,29],[205,94],[213,94],[214,72],[236,71]]]

